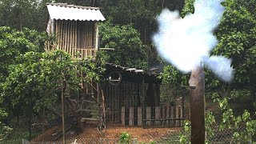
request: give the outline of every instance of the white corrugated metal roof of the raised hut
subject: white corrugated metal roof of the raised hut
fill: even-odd
[[[73,6],[60,3],[47,4],[51,19],[79,20],[79,21],[104,21],[105,18],[98,7]]]

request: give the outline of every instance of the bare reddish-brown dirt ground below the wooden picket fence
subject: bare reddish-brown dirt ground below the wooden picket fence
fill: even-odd
[[[128,132],[132,138],[137,138],[139,142],[150,142],[165,138],[167,134],[178,131],[181,128],[149,128],[143,129],[142,126],[122,126],[121,124],[109,123],[106,125],[106,130],[103,134],[98,132],[97,124],[89,123],[86,125],[82,134],[75,134],[74,130],[69,130],[66,134],[66,138],[119,138],[122,132]],[[56,134],[61,130],[61,126],[55,126],[50,130],[47,130],[44,134],[34,138],[34,141],[52,141],[53,134]]]

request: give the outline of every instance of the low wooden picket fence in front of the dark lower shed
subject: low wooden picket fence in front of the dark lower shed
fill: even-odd
[[[178,127],[183,122],[181,106],[124,107],[121,110],[123,126]]]

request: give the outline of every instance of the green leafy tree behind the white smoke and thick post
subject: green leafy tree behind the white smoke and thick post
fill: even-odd
[[[182,10],[182,16],[186,13],[194,13],[194,0],[187,0]],[[222,2],[226,7],[222,21],[215,31],[219,43],[212,51],[212,55],[223,55],[233,60],[234,80],[230,85],[218,81],[210,70],[206,70],[206,89],[216,90],[225,88],[230,90],[232,96],[238,97],[244,94],[242,91],[249,90],[252,98],[255,94],[255,7],[254,0],[244,2],[227,0]],[[166,66],[162,73],[165,82],[178,82],[187,85],[187,77],[181,74],[173,66]],[[234,91],[240,91],[235,93]]]

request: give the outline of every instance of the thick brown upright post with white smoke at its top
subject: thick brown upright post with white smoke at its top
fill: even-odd
[[[205,143],[205,82],[203,66],[197,66],[190,76],[191,143]]]

